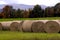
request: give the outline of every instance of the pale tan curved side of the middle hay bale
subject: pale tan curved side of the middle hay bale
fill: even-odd
[[[33,21],[32,20],[25,20],[22,24],[22,30],[23,32],[31,32],[31,25]]]

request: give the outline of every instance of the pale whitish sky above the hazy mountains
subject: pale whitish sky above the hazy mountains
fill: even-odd
[[[0,0],[0,4],[27,4],[27,5],[46,5],[54,6],[60,0]]]

